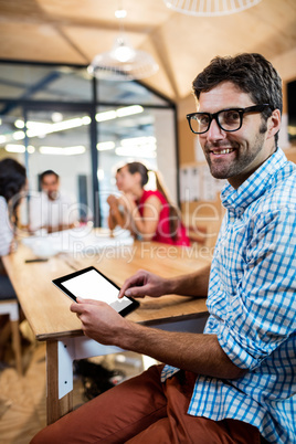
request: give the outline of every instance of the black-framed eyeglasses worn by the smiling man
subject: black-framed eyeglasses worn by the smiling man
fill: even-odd
[[[213,119],[223,131],[237,131],[243,125],[243,117],[245,113],[261,113],[269,104],[249,106],[247,108],[229,108],[221,109],[218,113],[191,113],[187,115],[190,129],[194,134],[207,133]]]

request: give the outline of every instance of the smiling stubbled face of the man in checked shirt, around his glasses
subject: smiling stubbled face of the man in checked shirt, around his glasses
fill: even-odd
[[[216,113],[252,105],[255,104],[249,94],[231,82],[223,82],[208,93],[201,93],[199,112]],[[266,137],[266,129],[260,113],[246,113],[242,127],[234,133],[224,131],[213,119],[209,130],[199,135],[212,176],[229,179],[234,188],[239,188],[275,150],[273,138]]]

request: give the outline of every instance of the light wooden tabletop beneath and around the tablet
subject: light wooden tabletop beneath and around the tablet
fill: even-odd
[[[197,249],[138,241],[133,246],[104,249],[97,254],[62,253],[47,262],[25,263],[33,257],[32,251],[20,243],[14,254],[3,257],[3,264],[38,340],[82,335],[80,320],[70,311],[71,299],[52,284],[56,277],[93,265],[120,286],[139,268],[172,277],[207,267],[210,261],[201,257]],[[148,325],[207,311],[203,298],[169,295],[139,302],[140,307],[128,318]]]

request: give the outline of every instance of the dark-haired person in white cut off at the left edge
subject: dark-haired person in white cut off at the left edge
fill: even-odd
[[[18,226],[18,210],[27,183],[25,169],[14,159],[0,161],[0,302],[15,299],[15,293],[7,276],[1,256],[15,249],[14,232]]]

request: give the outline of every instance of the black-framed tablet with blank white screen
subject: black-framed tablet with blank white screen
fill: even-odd
[[[139,306],[139,303],[128,296],[118,299],[119,287],[94,266],[80,269],[66,276],[52,281],[62,292],[76,302],[95,299],[107,303],[121,316]]]

